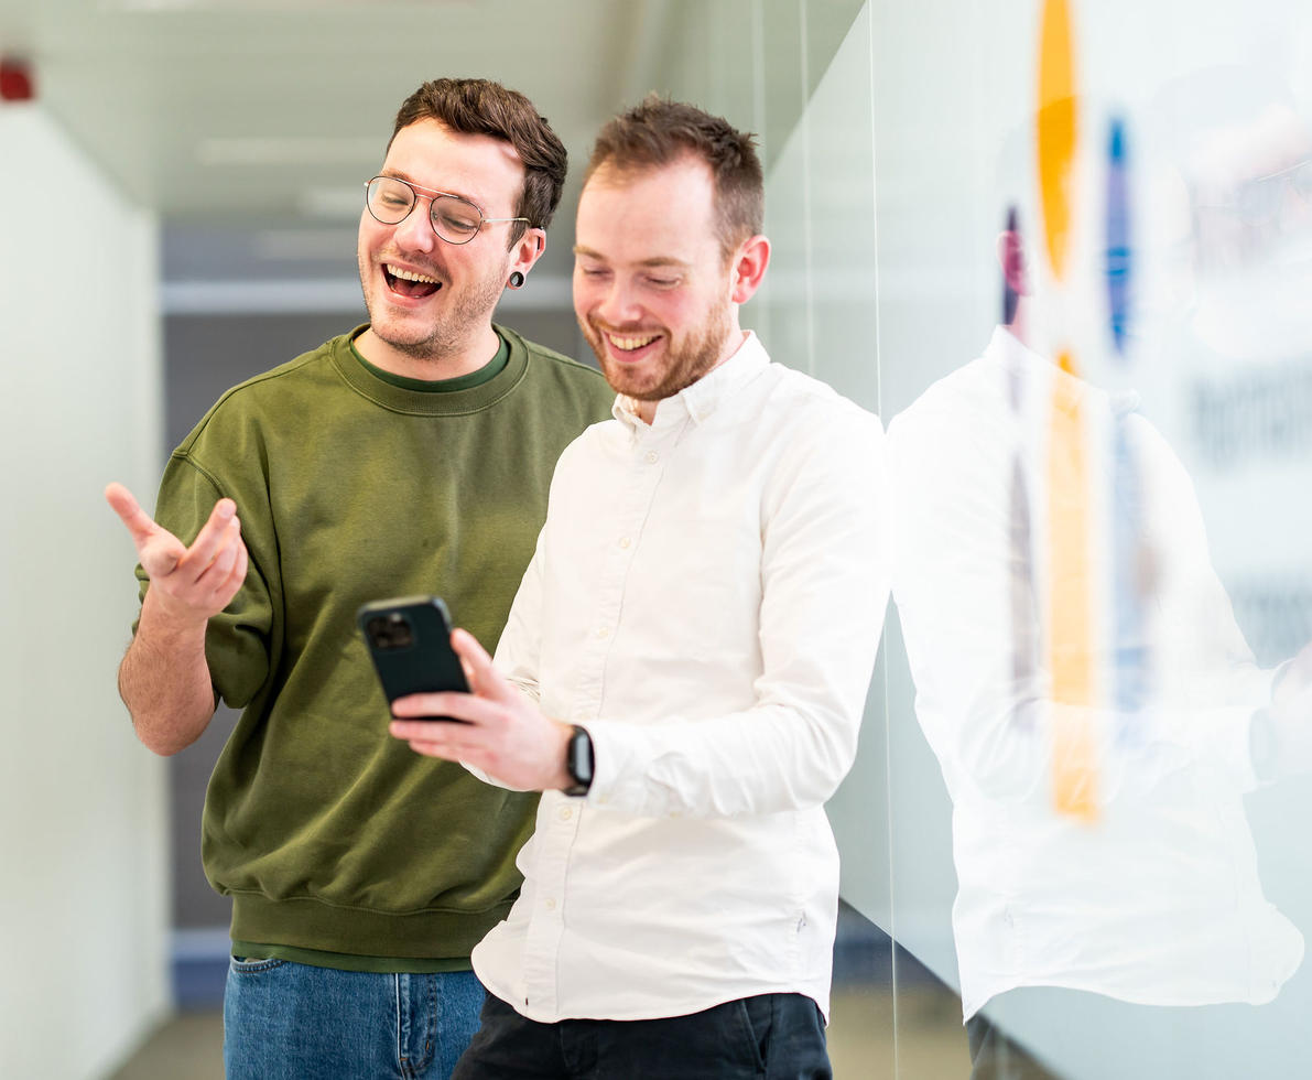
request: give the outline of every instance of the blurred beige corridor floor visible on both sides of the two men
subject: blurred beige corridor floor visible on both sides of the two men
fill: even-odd
[[[896,1024],[896,1038],[893,1037]],[[960,1004],[939,987],[834,992],[829,1056],[836,1080],[950,1080],[970,1071]],[[223,1080],[223,1018],[181,1013],[164,1024],[108,1080]]]

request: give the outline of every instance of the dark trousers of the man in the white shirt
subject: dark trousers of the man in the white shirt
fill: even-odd
[[[491,993],[451,1080],[832,1080],[810,997],[765,993],[661,1020],[526,1020]]]

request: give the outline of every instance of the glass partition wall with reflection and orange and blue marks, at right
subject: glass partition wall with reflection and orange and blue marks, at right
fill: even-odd
[[[669,10],[764,143],[745,322],[888,432],[837,1075],[1300,1075],[1312,9]]]

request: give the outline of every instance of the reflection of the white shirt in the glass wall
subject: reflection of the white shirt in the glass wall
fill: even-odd
[[[1052,699],[1044,661],[1055,381],[1081,403],[1089,463],[1099,696],[1078,707]],[[1134,505],[1115,495],[1118,423]],[[980,360],[890,424],[888,458],[893,596],[916,714],[953,798],[966,1017],[1021,986],[1160,1005],[1273,999],[1303,941],[1262,895],[1240,798],[1253,783],[1249,719],[1267,702],[1270,675],[1235,623],[1170,447],[998,328]],[[1017,505],[1027,509],[1019,526]],[[1127,522],[1141,558],[1132,642],[1117,638],[1110,554]],[[1017,604],[1021,579],[1033,587],[1027,608]],[[1117,652],[1127,644],[1141,652]],[[1126,675],[1117,657],[1128,655],[1147,656],[1148,672],[1132,711],[1110,703]],[[1096,735],[1092,820],[1054,806],[1052,735],[1071,722]]]

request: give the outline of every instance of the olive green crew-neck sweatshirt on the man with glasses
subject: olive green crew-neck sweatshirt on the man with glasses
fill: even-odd
[[[598,373],[497,331],[505,367],[443,394],[370,371],[359,329],[336,337],[224,394],[165,468],[157,521],[190,542],[230,496],[251,554],[206,638],[215,693],[244,710],[202,825],[236,942],[467,966],[520,887],[537,795],[392,739],[356,629],[366,601],[434,593],[495,648],[556,458],[609,416]]]

